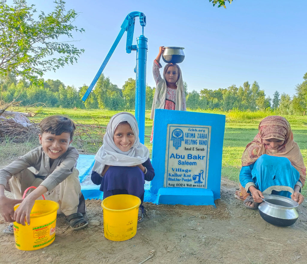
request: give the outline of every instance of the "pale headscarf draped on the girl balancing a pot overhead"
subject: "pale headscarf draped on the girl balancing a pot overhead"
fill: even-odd
[[[155,109],[164,109],[165,106],[165,99],[166,99],[166,91],[167,91],[167,84],[165,81],[165,72],[169,68],[169,66],[177,66],[178,68],[178,81],[177,81],[177,91],[176,91],[176,103],[175,103],[175,110],[182,111],[183,103],[182,103],[182,98],[183,98],[183,93],[185,92],[185,89],[183,87],[183,80],[182,80],[182,73],[181,69],[177,64],[166,64],[164,69],[163,69],[163,78],[157,83],[156,91],[153,96],[153,104],[151,107],[151,114],[150,118],[153,119],[154,117],[154,110]]]

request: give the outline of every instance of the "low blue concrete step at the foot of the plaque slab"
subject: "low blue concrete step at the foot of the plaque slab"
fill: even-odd
[[[213,205],[213,192],[210,189],[160,188],[156,204]]]

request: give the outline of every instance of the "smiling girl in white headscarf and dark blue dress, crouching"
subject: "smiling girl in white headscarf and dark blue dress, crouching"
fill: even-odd
[[[100,184],[103,199],[115,194],[131,194],[141,199],[138,222],[143,221],[144,184],[154,177],[149,150],[140,143],[134,115],[121,112],[107,125],[103,146],[96,156],[91,180]]]

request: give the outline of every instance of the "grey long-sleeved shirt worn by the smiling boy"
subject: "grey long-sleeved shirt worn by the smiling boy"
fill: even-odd
[[[67,151],[53,161],[50,167],[49,156],[45,154],[43,147],[37,147],[13,161],[3,169],[0,169],[0,184],[6,186],[12,175],[21,170],[34,167],[36,177],[44,181],[41,185],[51,192],[56,185],[64,181],[77,164],[79,153],[74,147],[68,147]]]

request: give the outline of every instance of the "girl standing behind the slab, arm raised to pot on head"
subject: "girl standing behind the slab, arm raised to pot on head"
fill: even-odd
[[[154,118],[155,109],[168,109],[186,111],[185,89],[183,87],[181,69],[177,64],[168,63],[163,70],[163,78],[160,75],[160,59],[164,46],[159,48],[157,58],[153,61],[153,78],[156,81],[156,91],[153,96],[153,105],[150,118]],[[150,143],[153,142],[153,128]]]

